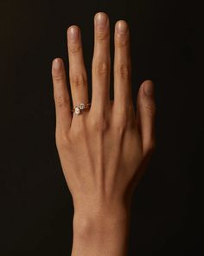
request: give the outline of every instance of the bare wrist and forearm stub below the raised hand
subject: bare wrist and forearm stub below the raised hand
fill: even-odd
[[[72,256],[125,256],[128,249],[130,210],[73,216]]]

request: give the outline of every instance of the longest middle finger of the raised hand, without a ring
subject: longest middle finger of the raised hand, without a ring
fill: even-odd
[[[94,16],[94,50],[92,58],[92,109],[110,104],[110,28],[104,12]]]

